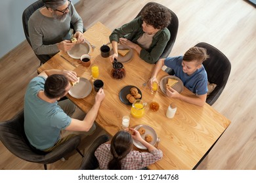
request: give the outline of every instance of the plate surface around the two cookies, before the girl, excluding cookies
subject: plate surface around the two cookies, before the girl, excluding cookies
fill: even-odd
[[[146,129],[146,132],[141,135],[142,139],[145,139],[146,135],[151,135],[153,141],[150,142],[150,144],[154,146],[156,144],[156,141],[158,140],[158,135],[156,135],[156,131],[149,125],[137,125],[134,129],[138,130],[140,127],[144,127],[144,129]],[[137,146],[137,148],[146,150],[146,147],[142,145],[139,141],[133,139],[133,144]]]

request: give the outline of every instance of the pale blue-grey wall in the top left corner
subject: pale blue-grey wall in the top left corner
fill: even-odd
[[[0,58],[26,39],[22,26],[23,10],[37,0],[1,0]],[[77,3],[79,0],[72,0]]]

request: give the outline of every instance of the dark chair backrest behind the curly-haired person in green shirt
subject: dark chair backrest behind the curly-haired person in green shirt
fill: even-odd
[[[137,14],[136,18],[140,16],[140,14],[144,11],[144,9],[146,7],[153,5],[153,4],[157,4],[161,7],[164,7],[163,5],[160,5],[159,3],[155,3],[155,2],[146,3],[146,5],[140,10],[139,14]],[[165,8],[167,8],[167,7],[165,7]],[[173,49],[173,45],[174,45],[174,42],[177,37],[178,28],[179,28],[179,19],[178,19],[177,15],[169,8],[167,8],[167,9],[169,10],[169,12],[171,12],[171,24],[169,24],[167,26],[167,29],[169,29],[169,31],[171,33],[171,38],[167,42],[167,45],[165,46],[165,49],[163,50],[163,53],[161,54],[160,58],[167,58],[169,56],[169,54],[171,53],[171,50]]]

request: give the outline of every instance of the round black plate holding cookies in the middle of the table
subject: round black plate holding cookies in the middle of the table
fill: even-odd
[[[119,99],[125,105],[132,105],[136,99],[141,99],[142,93],[136,86],[125,86],[119,92]]]

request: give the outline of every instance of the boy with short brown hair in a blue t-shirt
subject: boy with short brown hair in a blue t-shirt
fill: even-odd
[[[188,97],[181,95],[173,88],[167,88],[168,97],[181,99],[194,105],[203,106],[207,97],[207,73],[203,67],[203,61],[209,58],[205,48],[192,47],[184,56],[160,59],[154,67],[154,71],[148,86],[152,87],[152,82],[157,81],[156,76],[163,65],[170,67],[175,72],[175,76],[180,78],[186,88],[196,94],[196,97]]]

